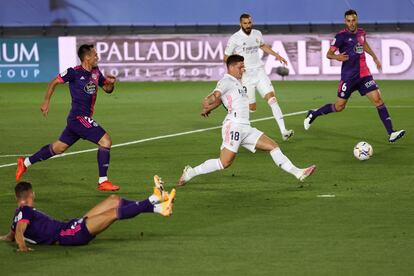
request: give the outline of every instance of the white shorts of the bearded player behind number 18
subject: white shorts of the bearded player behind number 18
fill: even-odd
[[[242,84],[247,89],[247,96],[249,97],[250,104],[256,102],[256,89],[262,98],[264,98],[267,93],[275,91],[272,82],[266,75],[263,67],[246,70],[246,72],[243,73]]]

